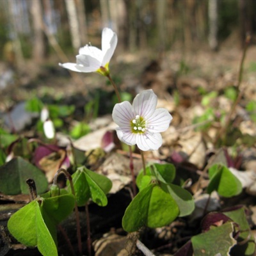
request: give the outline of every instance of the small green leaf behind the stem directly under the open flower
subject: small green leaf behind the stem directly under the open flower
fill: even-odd
[[[176,171],[173,164],[149,164],[146,167],[146,175],[154,176],[157,180],[165,183],[172,183],[175,179]],[[138,188],[141,187],[141,180],[143,179],[143,170],[140,171],[136,178]]]

